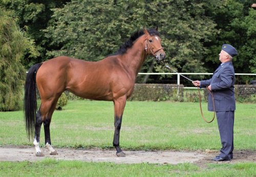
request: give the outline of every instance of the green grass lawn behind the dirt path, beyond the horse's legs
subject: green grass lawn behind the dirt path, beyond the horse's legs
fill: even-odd
[[[212,112],[203,110],[208,119]],[[234,121],[234,147],[256,149],[255,104],[237,104]],[[23,112],[0,112],[0,145],[32,145],[26,136]],[[112,102],[69,101],[63,111],[55,111],[51,140],[55,147],[112,148],[114,106]],[[44,128],[41,129],[44,145]],[[220,149],[217,120],[206,123],[199,103],[127,102],[120,146],[130,150]]]

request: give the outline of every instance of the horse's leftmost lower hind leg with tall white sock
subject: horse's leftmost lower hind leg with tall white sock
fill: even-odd
[[[35,150],[36,150],[35,155],[38,157],[45,156],[44,154],[42,154],[40,147],[39,147],[41,125],[42,125],[42,120],[41,120],[41,112],[40,112],[40,108],[39,108],[38,112],[36,113],[35,138],[34,138],[34,142],[33,142],[33,144],[35,146]]]

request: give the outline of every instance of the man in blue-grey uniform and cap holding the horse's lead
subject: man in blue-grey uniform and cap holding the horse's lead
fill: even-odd
[[[222,148],[220,155],[214,161],[233,159],[233,125],[236,100],[234,99],[234,68],[232,58],[237,56],[236,48],[223,44],[219,54],[221,65],[215,70],[212,78],[205,81],[193,81],[196,87],[207,88],[214,95],[214,104],[211,95],[208,95],[208,110],[216,111]]]

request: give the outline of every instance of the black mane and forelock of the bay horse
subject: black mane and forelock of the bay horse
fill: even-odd
[[[157,35],[160,36],[160,33],[156,29],[148,29],[147,32],[150,35]],[[118,51],[113,55],[122,55],[126,52],[126,50],[133,46],[133,42],[137,40],[140,36],[144,34],[143,30],[138,30],[137,32],[133,33],[130,39],[124,42],[118,49]],[[111,56],[113,56],[111,55]]]

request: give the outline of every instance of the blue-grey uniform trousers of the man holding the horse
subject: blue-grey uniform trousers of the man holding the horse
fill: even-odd
[[[233,128],[234,128],[234,111],[216,112],[218,127],[221,137],[222,148],[220,157],[230,160],[233,157]]]

